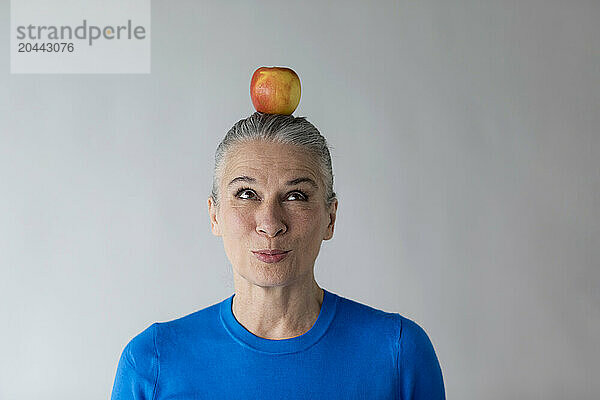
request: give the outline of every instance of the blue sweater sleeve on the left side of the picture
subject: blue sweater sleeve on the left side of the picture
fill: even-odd
[[[158,353],[154,323],[135,336],[123,349],[113,384],[111,400],[152,400],[158,381]]]

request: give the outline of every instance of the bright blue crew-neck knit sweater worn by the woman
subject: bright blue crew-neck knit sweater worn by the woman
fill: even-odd
[[[324,290],[308,332],[273,340],[235,319],[233,296],[131,339],[111,399],[445,399],[429,337],[398,313]]]

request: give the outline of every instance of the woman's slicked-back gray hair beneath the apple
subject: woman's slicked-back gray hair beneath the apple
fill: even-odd
[[[252,140],[296,145],[307,150],[309,154],[312,153],[325,184],[325,205],[330,206],[335,201],[337,197],[333,191],[333,169],[329,146],[319,130],[308,122],[306,117],[255,112],[233,125],[217,147],[210,194],[216,207],[219,206],[219,184],[227,152],[236,144]]]

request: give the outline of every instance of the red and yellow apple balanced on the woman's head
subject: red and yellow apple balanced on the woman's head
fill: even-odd
[[[260,67],[250,81],[250,98],[256,111],[290,115],[300,103],[300,78],[286,67]]]

